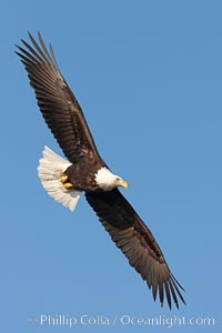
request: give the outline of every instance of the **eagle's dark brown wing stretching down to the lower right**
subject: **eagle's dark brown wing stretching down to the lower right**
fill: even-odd
[[[172,275],[151,231],[119,190],[103,193],[87,192],[85,198],[115,245],[147,281],[149,289],[152,289],[154,301],[159,293],[161,305],[164,295],[170,309],[171,299],[179,309],[178,296],[185,304],[180,292],[183,287]]]

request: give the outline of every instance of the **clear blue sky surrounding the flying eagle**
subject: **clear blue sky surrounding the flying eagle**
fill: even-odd
[[[168,331],[124,315],[194,317],[176,332],[221,332],[221,1],[194,0],[2,4],[2,332]],[[70,213],[41,188],[43,145],[61,151],[13,53],[28,30],[52,43],[101,155],[129,182],[124,195],[185,289],[180,311],[152,301],[83,196]],[[110,325],[81,324],[84,314]],[[41,315],[78,322],[40,325]]]

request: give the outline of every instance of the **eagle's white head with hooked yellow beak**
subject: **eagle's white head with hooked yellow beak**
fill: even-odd
[[[117,186],[128,188],[128,183],[117,174],[113,174],[108,168],[102,167],[95,173],[95,182],[103,191],[111,191]]]

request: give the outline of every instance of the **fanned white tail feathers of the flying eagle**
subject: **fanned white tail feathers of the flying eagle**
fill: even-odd
[[[60,158],[48,147],[44,147],[42,155],[38,167],[38,174],[42,186],[56,201],[69,208],[70,211],[73,211],[81,192],[65,189],[60,181],[60,176],[71,163]]]

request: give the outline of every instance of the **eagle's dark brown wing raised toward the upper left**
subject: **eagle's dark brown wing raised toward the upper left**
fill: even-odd
[[[40,44],[29,33],[33,47],[22,40],[26,49],[18,47],[17,54],[27,69],[48,127],[70,162],[81,157],[100,159],[81,107],[60,73],[52,47],[48,51],[40,33],[38,36]]]

